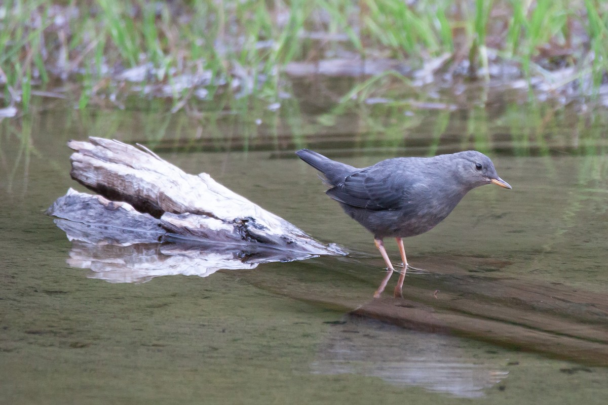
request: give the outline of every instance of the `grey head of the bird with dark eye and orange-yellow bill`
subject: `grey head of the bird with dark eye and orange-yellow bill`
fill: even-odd
[[[457,156],[457,175],[462,183],[475,188],[489,183],[510,189],[505,180],[500,179],[494,164],[486,155],[477,151],[454,154]]]

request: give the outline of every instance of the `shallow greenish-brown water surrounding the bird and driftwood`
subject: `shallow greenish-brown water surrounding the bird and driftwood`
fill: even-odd
[[[604,352],[590,360],[603,349],[559,340],[606,344],[603,114],[488,103],[328,117],[311,100],[299,114],[49,109],[1,121],[0,402],[605,403]],[[145,143],[350,255],[143,284],[95,279],[66,264],[72,243],[43,215],[67,188],[82,189],[65,143],[88,135]],[[406,277],[405,301],[390,298],[395,277],[371,302],[382,259],[292,154],[300,146],[354,166],[475,148],[513,190],[475,189],[437,228],[407,239],[411,264],[428,273]],[[511,291],[520,299],[502,296]],[[399,318],[416,310],[423,321]],[[537,313],[528,340],[507,335]],[[471,319],[504,328],[484,334]]]

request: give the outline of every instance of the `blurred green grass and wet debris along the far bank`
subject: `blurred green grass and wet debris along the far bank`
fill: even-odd
[[[601,100],[607,36],[599,0],[12,0],[0,5],[3,114],[36,96],[278,109],[294,77],[317,74],[353,78],[333,101],[392,102],[429,83]]]

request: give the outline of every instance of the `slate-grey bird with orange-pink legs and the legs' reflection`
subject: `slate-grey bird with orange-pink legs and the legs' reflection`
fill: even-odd
[[[382,294],[395,271],[384,248],[385,237],[394,237],[399,246],[403,271],[395,296],[402,296],[408,267],[402,238],[430,231],[475,187],[494,183],[511,188],[498,177],[492,161],[477,151],[435,157],[397,157],[364,169],[336,162],[308,149],[295,154],[325,176],[325,183],[330,186],[326,194],[373,233],[389,270],[375,298]]]

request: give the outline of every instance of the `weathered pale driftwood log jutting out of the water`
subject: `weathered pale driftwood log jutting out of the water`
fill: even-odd
[[[238,245],[258,253],[269,248],[291,252],[261,255],[274,257],[267,261],[344,254],[208,174],[187,174],[151,151],[103,138],[68,145],[75,151],[72,178],[100,194],[70,189],[48,209],[71,240],[122,246],[181,241],[223,244],[231,251]]]

